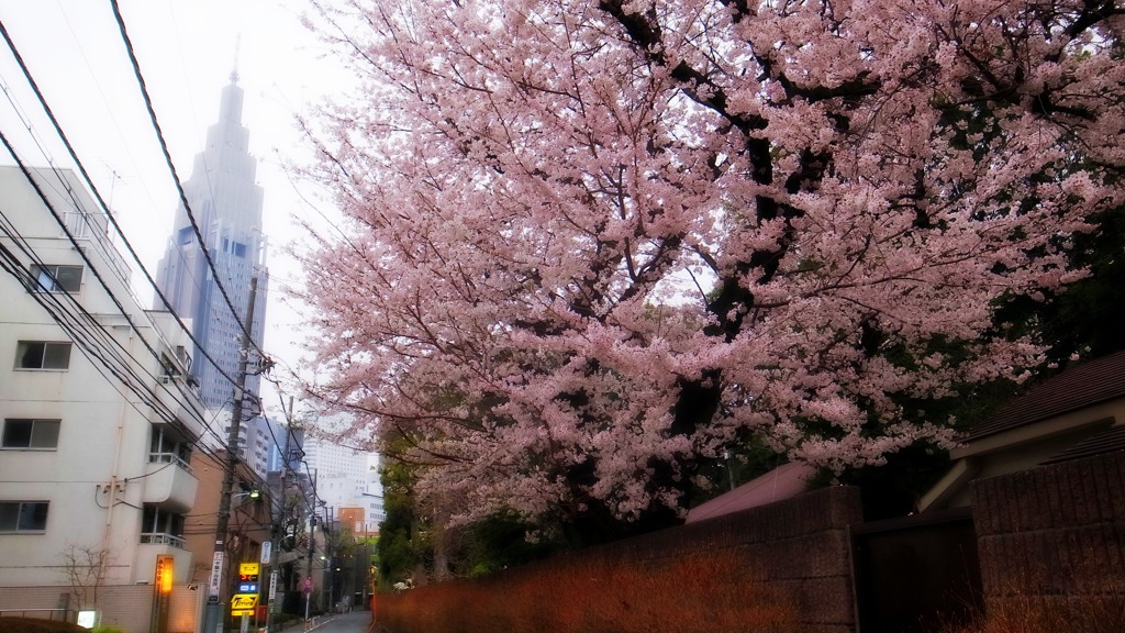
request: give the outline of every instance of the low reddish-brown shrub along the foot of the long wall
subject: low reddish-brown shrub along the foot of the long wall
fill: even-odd
[[[734,556],[699,554],[646,565],[540,565],[477,581],[380,596],[394,633],[798,633],[782,592]]]

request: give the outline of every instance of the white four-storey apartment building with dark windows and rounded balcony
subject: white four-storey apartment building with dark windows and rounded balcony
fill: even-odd
[[[37,187],[0,167],[0,610],[91,606],[69,569],[102,574],[101,604],[152,586],[158,558],[186,583],[188,457],[204,430],[187,335],[132,296],[78,177],[32,173]],[[151,603],[115,604],[104,624],[148,631]]]

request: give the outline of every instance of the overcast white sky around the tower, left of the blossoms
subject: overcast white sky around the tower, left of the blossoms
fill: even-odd
[[[220,91],[237,64],[245,91],[242,121],[250,130],[251,153],[259,159],[264,232],[271,242],[264,348],[297,368],[303,356],[296,345],[300,318],[286,304],[282,291],[297,268],[282,247],[300,238],[295,217],[323,223],[321,214],[331,216],[333,211],[314,203],[316,191],[307,185],[295,187],[282,162],[309,155],[294,115],[344,90],[350,78],[300,24],[300,15],[309,10],[303,0],[119,0],[119,7],[181,179],[191,176],[207,127],[218,117]],[[0,21],[155,277],[179,197],[110,1],[0,0]],[[0,131],[20,159],[32,166],[72,167],[2,42],[0,87]],[[25,117],[43,149],[28,133]],[[2,148],[0,162],[12,163]],[[152,291],[138,287],[146,283],[143,275],[135,273],[133,279],[142,305],[151,306]],[[267,407],[277,409],[278,395],[264,390],[263,383]]]

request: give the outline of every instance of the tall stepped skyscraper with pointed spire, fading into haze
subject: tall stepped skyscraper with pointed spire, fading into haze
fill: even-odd
[[[243,90],[237,82],[237,72],[232,72],[231,83],[223,89],[218,123],[207,130],[207,144],[196,155],[191,176],[183,182],[190,215],[181,202],[156,273],[156,285],[172,310],[191,319],[192,335],[198,341],[191,375],[199,382],[204,403],[212,409],[228,409],[233,401],[234,384],[226,376],[237,376],[240,322],[245,322],[251,278],[258,278],[258,291],[254,322],[246,326],[258,348],[264,333],[268,292],[262,188],[254,182],[256,163],[249,151],[250,131],[242,125]],[[218,273],[217,280],[205,250]],[[219,283],[234,304],[237,319]],[[164,309],[159,297],[156,306]],[[246,391],[256,394],[259,383],[256,375],[248,375]]]

